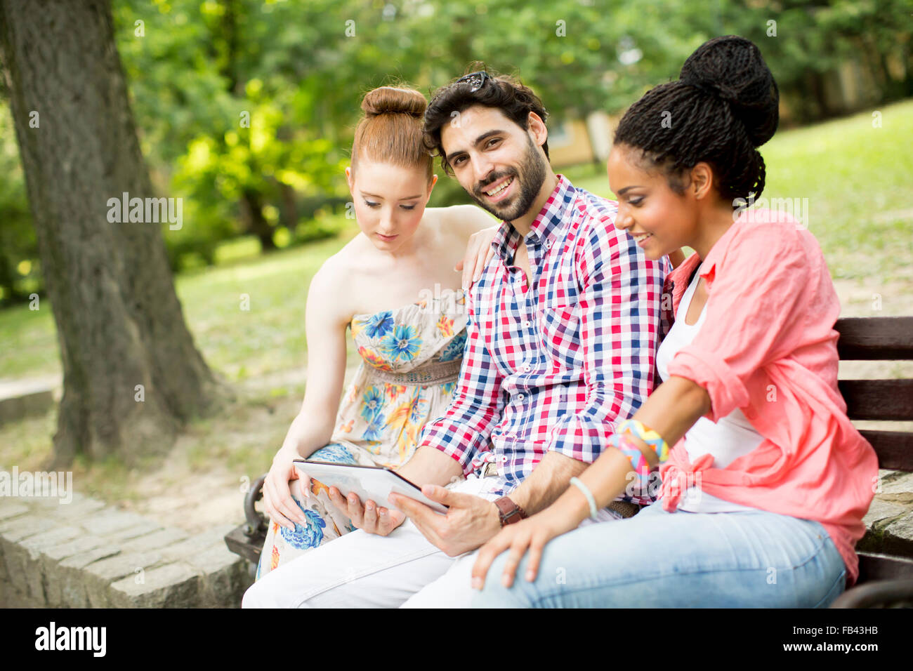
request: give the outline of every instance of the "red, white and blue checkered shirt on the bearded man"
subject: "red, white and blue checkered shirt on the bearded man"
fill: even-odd
[[[617,204],[562,175],[526,236],[530,284],[511,265],[519,231],[503,222],[495,257],[467,297],[467,344],[446,413],[419,446],[465,475],[498,465],[504,495],[549,451],[592,463],[614,423],[653,388],[666,258],[650,261],[614,227]],[[629,485],[619,497],[654,500]]]

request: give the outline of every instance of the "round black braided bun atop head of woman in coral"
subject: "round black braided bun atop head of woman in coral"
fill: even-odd
[[[755,147],[773,137],[780,121],[780,91],[759,49],[744,37],[715,37],[682,66],[682,83],[729,103]]]

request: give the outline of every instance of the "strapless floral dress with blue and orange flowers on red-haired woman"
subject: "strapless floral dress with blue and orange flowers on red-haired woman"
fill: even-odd
[[[466,345],[467,306],[462,289],[403,308],[355,315],[352,340],[362,357],[346,389],[331,442],[313,461],[398,467],[415,452],[425,423],[444,414],[453,396]],[[336,509],[329,489],[311,480],[310,498],[300,481],[292,497],[306,524],[295,530],[270,522],[257,580],[323,543],[354,530]]]

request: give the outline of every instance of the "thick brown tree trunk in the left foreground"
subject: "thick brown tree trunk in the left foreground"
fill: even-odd
[[[109,221],[110,198],[154,195],[110,4],[0,0],[0,55],[63,363],[54,465],[134,463],[222,387],[184,325],[163,225]]]

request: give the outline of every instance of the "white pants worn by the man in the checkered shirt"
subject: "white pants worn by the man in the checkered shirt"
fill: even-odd
[[[493,501],[498,483],[470,476],[448,489]],[[600,519],[614,513],[600,510]],[[358,529],[269,571],[245,592],[241,607],[467,608],[477,554],[448,557],[410,519],[388,536]]]

